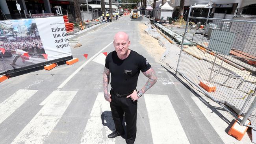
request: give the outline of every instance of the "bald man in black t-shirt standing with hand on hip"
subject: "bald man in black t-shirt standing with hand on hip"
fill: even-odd
[[[124,134],[122,127],[123,114],[127,129],[127,144],[134,144],[136,138],[137,121],[137,100],[156,81],[157,76],[147,60],[137,52],[130,50],[131,44],[125,32],[118,32],[113,41],[115,51],[110,52],[106,57],[103,72],[104,97],[110,102],[112,117],[115,123],[115,131],[108,135],[108,138],[115,138]],[[148,78],[146,85],[137,91],[139,73]],[[109,76],[111,73],[110,94],[108,93]]]

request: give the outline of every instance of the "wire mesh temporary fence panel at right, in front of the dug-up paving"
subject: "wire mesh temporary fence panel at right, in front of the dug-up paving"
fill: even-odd
[[[191,16],[190,9],[176,72],[241,126],[256,128],[256,22]],[[184,39],[190,44],[184,46]]]

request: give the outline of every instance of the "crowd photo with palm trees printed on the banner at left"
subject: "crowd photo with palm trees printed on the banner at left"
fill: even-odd
[[[0,72],[47,61],[34,19],[0,21]]]

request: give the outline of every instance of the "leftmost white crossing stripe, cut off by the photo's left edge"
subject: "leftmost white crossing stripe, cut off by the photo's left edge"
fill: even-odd
[[[4,102],[0,103],[0,124],[37,91],[38,90],[20,89]]]

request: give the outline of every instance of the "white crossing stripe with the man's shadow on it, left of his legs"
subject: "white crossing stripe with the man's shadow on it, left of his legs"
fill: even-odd
[[[109,102],[105,100],[104,94],[99,92],[80,142],[81,144],[115,144],[115,138],[108,138],[114,129]]]

